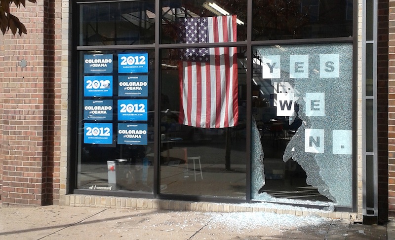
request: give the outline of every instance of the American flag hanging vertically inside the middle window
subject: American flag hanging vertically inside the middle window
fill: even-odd
[[[237,41],[236,16],[183,18],[182,43]],[[227,128],[238,122],[237,47],[180,50],[179,122],[199,128]]]

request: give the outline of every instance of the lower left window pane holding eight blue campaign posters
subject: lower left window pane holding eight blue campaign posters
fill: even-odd
[[[154,52],[98,52],[80,53],[77,187],[152,192]]]

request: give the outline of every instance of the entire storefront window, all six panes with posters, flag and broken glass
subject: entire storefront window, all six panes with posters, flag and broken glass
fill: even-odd
[[[77,189],[352,206],[353,44],[257,42],[352,36],[352,1],[247,2],[78,4]]]

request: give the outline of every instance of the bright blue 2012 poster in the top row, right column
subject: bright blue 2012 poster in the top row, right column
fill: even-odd
[[[148,53],[118,54],[118,73],[148,72]]]

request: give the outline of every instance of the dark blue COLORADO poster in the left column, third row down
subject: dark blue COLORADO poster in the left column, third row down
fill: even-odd
[[[112,121],[113,100],[84,100],[83,120]]]

